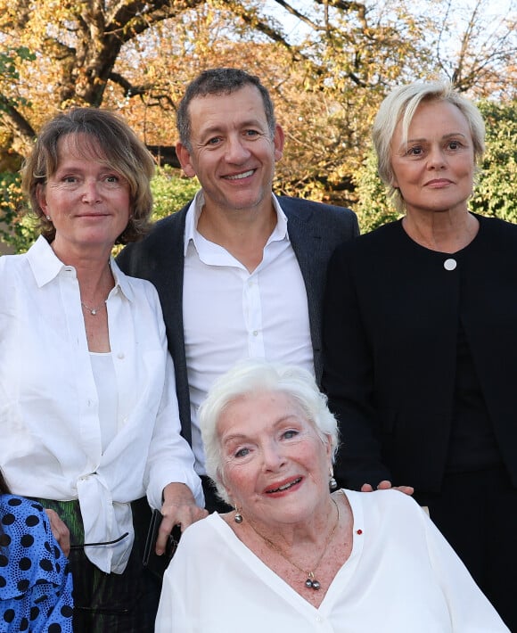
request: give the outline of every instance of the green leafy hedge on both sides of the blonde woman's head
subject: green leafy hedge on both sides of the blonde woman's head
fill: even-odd
[[[483,102],[479,107],[487,127],[487,148],[469,207],[480,215],[517,223],[517,102]],[[366,152],[354,183],[362,233],[399,217],[377,174],[373,148]]]

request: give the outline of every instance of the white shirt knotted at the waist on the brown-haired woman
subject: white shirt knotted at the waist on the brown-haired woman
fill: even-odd
[[[129,503],[185,483],[204,504],[193,454],[180,436],[174,368],[158,294],[111,260],[107,300],[119,395],[119,431],[103,452],[99,399],[75,268],[45,238],[0,258],[0,464],[17,495],[78,499],[86,547],[103,571],[121,573],[134,540]]]

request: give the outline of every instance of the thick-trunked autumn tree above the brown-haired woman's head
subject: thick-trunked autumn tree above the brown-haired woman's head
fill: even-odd
[[[149,90],[145,82],[130,85],[115,72],[123,46],[198,4],[201,0],[2,0],[4,44],[26,45],[36,53],[35,62],[20,70],[16,88],[37,107],[37,114],[13,106],[2,117],[21,153],[34,137],[32,120],[37,123],[41,115],[71,104],[102,105],[109,81],[131,95]],[[5,86],[2,97],[9,98]]]

